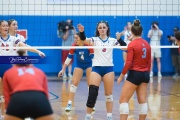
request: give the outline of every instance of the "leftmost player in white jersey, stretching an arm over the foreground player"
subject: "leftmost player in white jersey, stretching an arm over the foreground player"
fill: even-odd
[[[0,56],[14,56],[17,55],[15,50],[12,47],[27,47],[28,45],[24,44],[20,41],[19,38],[15,36],[11,36],[8,34],[9,26],[7,21],[2,20],[0,21]],[[3,47],[9,47],[3,49]],[[26,50],[38,53],[40,56],[44,57],[45,54],[33,47],[28,46]],[[4,113],[4,96],[2,95],[2,86],[1,86],[1,78],[4,72],[11,67],[11,64],[0,64],[0,103],[1,103],[1,113]]]

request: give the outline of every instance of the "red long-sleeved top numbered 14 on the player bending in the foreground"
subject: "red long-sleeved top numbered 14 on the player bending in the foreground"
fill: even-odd
[[[46,75],[33,66],[13,66],[3,77],[3,88],[6,107],[12,94],[20,91],[42,91],[48,98]]]

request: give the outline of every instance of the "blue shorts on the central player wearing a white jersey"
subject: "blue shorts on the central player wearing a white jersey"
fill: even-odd
[[[93,66],[92,72],[98,73],[101,77],[109,72],[114,72],[113,66]]]

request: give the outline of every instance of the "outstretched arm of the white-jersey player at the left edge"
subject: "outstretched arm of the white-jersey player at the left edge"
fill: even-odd
[[[20,40],[16,40],[15,41],[15,46],[18,46],[18,47],[26,47],[25,50],[27,51],[30,51],[30,52],[34,52],[34,53],[37,53],[39,54],[39,56],[41,57],[45,57],[45,54],[43,52],[41,52],[40,50],[37,50],[36,48],[33,48],[27,44],[24,44],[23,42],[21,42]]]

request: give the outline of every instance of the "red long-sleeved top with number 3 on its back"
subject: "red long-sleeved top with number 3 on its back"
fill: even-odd
[[[151,47],[147,41],[137,38],[129,43],[127,49],[127,59],[122,74],[128,70],[150,71],[151,67]]]

